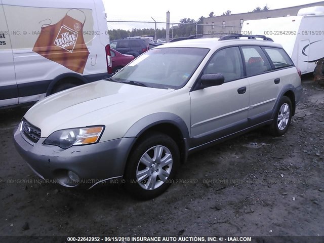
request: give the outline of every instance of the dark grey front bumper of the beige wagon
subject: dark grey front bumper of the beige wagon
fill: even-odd
[[[45,138],[41,138],[32,145],[23,138],[19,126],[14,131],[16,149],[37,176],[66,187],[90,188],[101,181],[123,177],[136,138],[120,138],[68,149],[43,144],[44,141]],[[68,171],[77,174],[77,184],[65,182]]]

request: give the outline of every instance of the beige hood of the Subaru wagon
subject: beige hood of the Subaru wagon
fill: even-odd
[[[41,129],[42,137],[48,137],[61,129],[105,125],[103,117],[170,92],[172,90],[100,80],[46,97],[32,106],[24,117]]]

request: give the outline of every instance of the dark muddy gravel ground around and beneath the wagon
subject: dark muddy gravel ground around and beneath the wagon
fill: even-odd
[[[323,236],[324,86],[311,79],[286,135],[262,128],[196,152],[148,201],[121,185],[41,184],[12,139],[27,108],[0,111],[0,235]]]

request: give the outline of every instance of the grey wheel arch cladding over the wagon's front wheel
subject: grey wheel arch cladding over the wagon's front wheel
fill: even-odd
[[[181,117],[169,112],[159,112],[147,115],[138,120],[126,132],[124,137],[140,138],[152,131],[164,133],[175,140],[179,147],[181,162],[183,163],[186,161],[189,150],[189,131]]]

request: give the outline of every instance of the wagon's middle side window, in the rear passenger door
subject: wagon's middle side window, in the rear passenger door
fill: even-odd
[[[271,65],[260,47],[242,47],[247,67],[247,76],[271,71]]]

